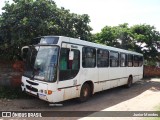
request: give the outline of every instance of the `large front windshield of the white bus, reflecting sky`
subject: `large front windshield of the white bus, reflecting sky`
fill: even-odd
[[[31,79],[56,81],[57,46],[30,46],[24,75]]]

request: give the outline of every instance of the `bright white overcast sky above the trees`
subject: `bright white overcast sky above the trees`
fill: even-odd
[[[1,0],[1,8],[4,6]],[[12,0],[8,0],[12,1]],[[93,28],[92,33],[103,27],[128,23],[154,25],[160,31],[160,0],[54,0],[58,7],[69,9],[72,13],[88,14]]]

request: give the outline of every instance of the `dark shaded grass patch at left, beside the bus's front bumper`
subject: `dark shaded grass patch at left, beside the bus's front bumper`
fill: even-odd
[[[0,86],[0,99],[30,98],[20,87]]]

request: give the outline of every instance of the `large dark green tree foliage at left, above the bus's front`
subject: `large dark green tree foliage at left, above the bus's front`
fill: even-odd
[[[0,49],[4,57],[17,59],[20,49],[43,35],[62,35],[89,40],[89,16],[57,8],[52,0],[13,0],[6,2],[0,16]]]

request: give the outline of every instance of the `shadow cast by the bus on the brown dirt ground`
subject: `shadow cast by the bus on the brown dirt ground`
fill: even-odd
[[[159,81],[158,81],[159,80]],[[20,111],[71,111],[69,116],[74,114],[74,111],[100,111],[126,100],[132,99],[146,90],[153,92],[160,91],[160,79],[156,81],[151,79],[140,80],[133,84],[131,88],[124,86],[105,90],[93,95],[93,97],[84,103],[78,103],[76,99],[61,102],[63,106],[51,107],[47,102],[37,98],[31,99],[16,99],[7,101],[3,110],[20,110]],[[0,105],[1,106],[1,105]],[[2,107],[1,107],[2,108]],[[80,113],[80,112],[79,112]],[[54,114],[54,113],[53,113]],[[82,115],[87,116],[88,114]],[[62,114],[63,116],[63,114]]]

